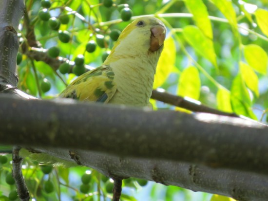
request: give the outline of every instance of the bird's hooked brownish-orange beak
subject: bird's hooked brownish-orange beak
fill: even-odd
[[[164,43],[166,38],[166,29],[161,25],[156,25],[151,28],[151,43],[150,50],[152,52],[158,50]]]

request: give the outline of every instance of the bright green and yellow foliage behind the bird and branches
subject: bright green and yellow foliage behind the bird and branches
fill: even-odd
[[[189,97],[218,110],[267,121],[267,0],[114,0],[109,8],[99,0],[50,2],[48,11],[42,11],[45,4],[41,5],[41,1],[25,1],[28,19],[24,17],[19,27],[17,58],[18,87],[22,91],[44,99],[54,98],[77,75],[99,66],[114,45],[110,33],[122,31],[129,23],[121,20],[121,10],[129,7],[135,17],[157,14],[168,28],[155,89]],[[40,12],[49,13],[56,18],[54,21],[61,18],[62,22],[62,17],[67,17],[68,22],[61,23],[57,29],[52,27],[50,20],[42,20],[46,16],[43,18],[40,15],[44,14]],[[184,15],[190,13],[193,17]],[[216,18],[209,20],[208,16]],[[38,41],[34,46],[29,40],[30,28],[34,29]],[[58,30],[68,32],[65,39],[59,37]],[[93,53],[86,51],[91,40],[97,43]],[[59,57],[54,57],[60,63],[70,64],[65,72],[47,60],[51,57],[48,49],[55,46]],[[48,54],[37,59],[33,52]],[[77,55],[84,55],[85,65],[74,62]],[[154,100],[151,102],[155,110],[181,110]],[[0,199],[8,200],[9,193],[15,192],[8,176],[11,158],[0,156],[0,159]],[[25,160],[23,175],[36,200],[111,199],[111,181],[87,167],[51,168]],[[123,186],[122,200],[125,201],[229,200],[143,180],[124,180]]]

